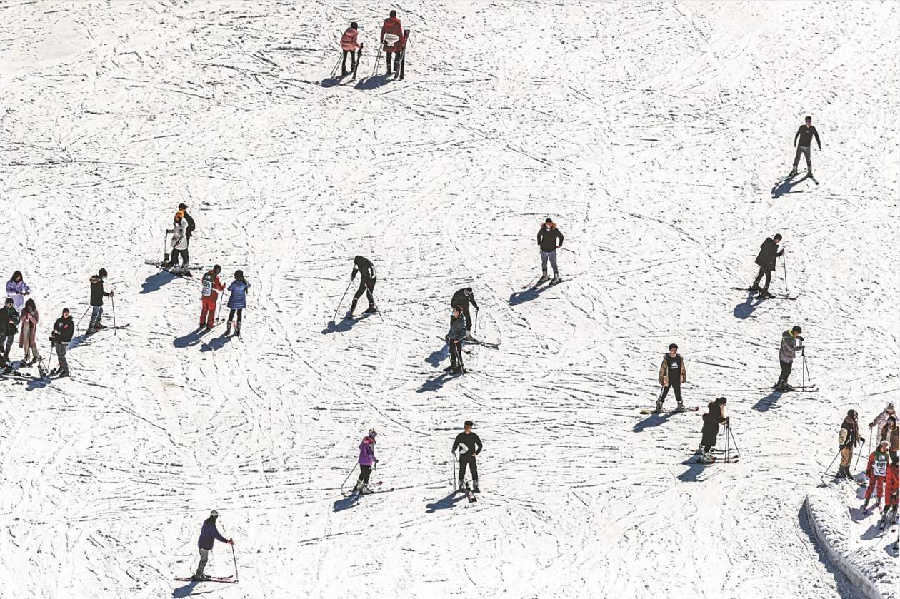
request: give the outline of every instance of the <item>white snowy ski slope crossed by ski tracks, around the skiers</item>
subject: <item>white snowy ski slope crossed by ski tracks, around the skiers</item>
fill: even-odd
[[[369,78],[392,7],[412,30],[396,83]],[[71,380],[0,380],[0,596],[855,596],[802,506],[846,410],[898,398],[896,3],[0,17],[0,273],[31,284],[40,340],[101,266],[130,323],[76,340]],[[351,20],[360,77],[332,85]],[[819,184],[776,186],[806,114]],[[242,338],[194,343],[199,286],[144,264],[179,201],[193,264],[253,283]],[[569,279],[523,291],[547,216]],[[758,304],[734,288],[776,232],[799,298]],[[329,329],[356,254],[383,319]],[[436,336],[466,284],[501,349],[446,379]],[[771,398],[794,324],[822,391]],[[641,416],[672,341],[701,410]],[[720,395],[740,463],[684,463]],[[450,496],[465,418],[485,446],[473,505]],[[396,490],[351,505],[370,426]],[[211,508],[238,585],[174,580]],[[207,571],[232,569],[217,546]]]

